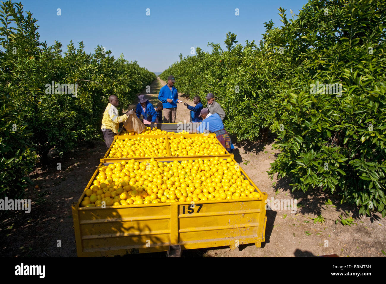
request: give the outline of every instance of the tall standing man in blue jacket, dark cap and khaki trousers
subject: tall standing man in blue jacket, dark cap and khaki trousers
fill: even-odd
[[[176,114],[177,114],[177,103],[181,103],[182,101],[178,100],[178,91],[174,88],[174,79],[173,75],[168,77],[168,84],[163,86],[161,90],[159,90],[158,100],[163,102],[164,107],[164,123],[175,123],[176,122]]]

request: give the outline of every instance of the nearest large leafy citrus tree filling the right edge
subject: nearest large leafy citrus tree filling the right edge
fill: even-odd
[[[280,9],[285,25],[272,42],[286,42],[284,55],[298,67],[276,91],[271,130],[281,153],[269,171],[289,176],[293,190],[328,189],[360,213],[383,216],[385,8],[381,1],[310,1],[290,22]],[[341,84],[342,93],[313,88],[322,83]]]

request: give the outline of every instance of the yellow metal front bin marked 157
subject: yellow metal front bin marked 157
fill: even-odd
[[[174,159],[185,160],[169,158]],[[265,241],[267,194],[241,171],[261,194],[260,198],[197,201],[194,208],[190,202],[80,207],[83,191],[78,202],[72,204],[78,256],[160,252],[167,251],[169,245],[181,245],[182,249],[234,249],[239,244],[255,243],[260,247]],[[98,169],[86,189],[97,174]]]

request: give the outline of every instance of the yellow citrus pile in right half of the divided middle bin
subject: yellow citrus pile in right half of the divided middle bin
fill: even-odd
[[[216,137],[196,136],[184,138],[181,136],[169,137],[171,156],[203,156],[224,155],[225,149]]]

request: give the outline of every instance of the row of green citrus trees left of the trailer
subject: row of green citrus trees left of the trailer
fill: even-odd
[[[125,108],[156,79],[137,62],[128,62],[123,56],[114,59],[111,51],[100,46],[94,54],[85,53],[83,42],[78,48],[70,42],[64,54],[60,42],[47,46],[39,40],[37,20],[23,11],[21,3],[4,2],[0,12],[0,92],[17,113],[12,119],[24,127],[18,127],[17,134],[43,161],[51,149],[62,156],[81,140],[100,139],[108,96],[117,95]],[[5,110],[8,112],[8,106]],[[10,122],[2,123],[4,131],[10,131]],[[11,141],[6,141],[6,147]],[[14,154],[20,156],[21,152],[15,150]],[[20,172],[27,168],[20,167]]]

